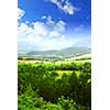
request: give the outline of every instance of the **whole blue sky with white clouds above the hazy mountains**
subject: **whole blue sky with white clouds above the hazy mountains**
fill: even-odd
[[[90,45],[91,0],[18,0],[18,48]]]

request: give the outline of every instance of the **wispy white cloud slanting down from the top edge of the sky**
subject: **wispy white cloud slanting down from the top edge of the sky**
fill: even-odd
[[[63,10],[65,13],[69,15],[74,14],[76,8],[69,2],[69,0],[47,0],[58,7],[58,9]]]

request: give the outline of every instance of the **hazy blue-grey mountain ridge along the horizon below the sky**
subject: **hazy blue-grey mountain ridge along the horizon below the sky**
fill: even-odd
[[[33,52],[26,52],[26,51],[19,51],[19,55],[36,55],[36,56],[63,56],[63,57],[70,57],[70,56],[78,56],[84,54],[89,54],[91,52],[90,47],[67,47],[59,51],[33,51]]]

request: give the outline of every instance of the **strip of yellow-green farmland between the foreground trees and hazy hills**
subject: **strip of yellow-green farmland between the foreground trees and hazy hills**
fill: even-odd
[[[19,63],[25,64],[70,64],[70,63],[86,63],[91,62],[91,54],[84,54],[77,56],[42,56],[42,55],[19,55]]]

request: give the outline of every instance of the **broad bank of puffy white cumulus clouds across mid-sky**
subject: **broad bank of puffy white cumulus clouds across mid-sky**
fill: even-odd
[[[18,26],[19,36],[28,35],[34,33],[34,35],[40,36],[58,36],[65,31],[66,23],[64,21],[53,21],[51,16],[46,16],[47,21],[44,22],[34,22],[30,26],[26,22],[21,23]],[[51,25],[53,24],[53,25]],[[51,26],[50,26],[51,25]]]

